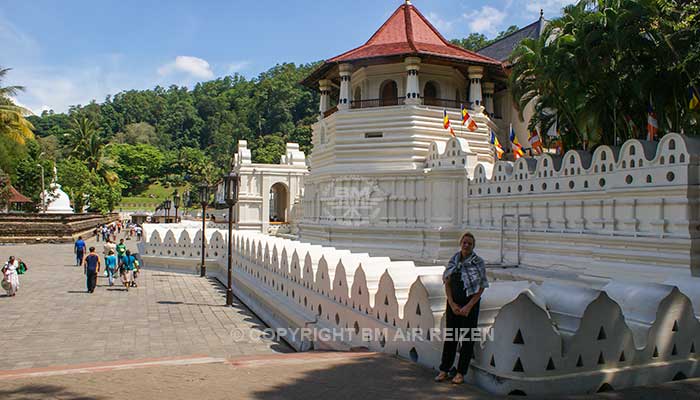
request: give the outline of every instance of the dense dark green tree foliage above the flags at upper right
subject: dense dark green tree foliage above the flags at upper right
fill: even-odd
[[[685,2],[683,2],[685,3]],[[661,131],[692,132],[697,113],[697,6],[672,0],[582,0],[511,57],[518,108],[532,103],[530,129],[558,121],[567,147],[644,136],[653,107]]]

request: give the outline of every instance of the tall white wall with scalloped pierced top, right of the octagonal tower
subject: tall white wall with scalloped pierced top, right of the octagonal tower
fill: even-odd
[[[491,173],[479,166],[464,194],[462,223],[494,261],[585,266],[607,276],[657,267],[698,275],[699,154],[697,139],[667,134],[658,143],[629,140],[593,154],[498,162]]]

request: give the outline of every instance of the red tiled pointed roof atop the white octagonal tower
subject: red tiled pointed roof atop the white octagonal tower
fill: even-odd
[[[403,4],[397,8],[367,43],[326,62],[348,62],[373,57],[421,54],[479,64],[500,65],[497,60],[448,42],[411,4]]]

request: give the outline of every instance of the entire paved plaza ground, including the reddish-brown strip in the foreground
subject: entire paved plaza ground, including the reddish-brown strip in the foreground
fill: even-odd
[[[238,302],[222,306],[213,279],[144,270],[138,288],[108,287],[101,276],[88,294],[72,245],[0,246],[0,259],[9,255],[29,271],[16,297],[0,296],[3,400],[498,398],[434,384],[433,371],[383,354],[294,353],[259,335],[234,338],[233,330],[265,326]],[[696,399],[699,391],[700,379],[691,379],[558,398]]]

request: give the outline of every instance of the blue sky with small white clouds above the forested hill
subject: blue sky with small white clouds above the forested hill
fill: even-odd
[[[560,15],[573,0],[413,0],[448,39],[495,36]],[[108,94],[187,85],[277,63],[327,59],[364,43],[403,0],[3,0],[3,86],[35,112]]]

